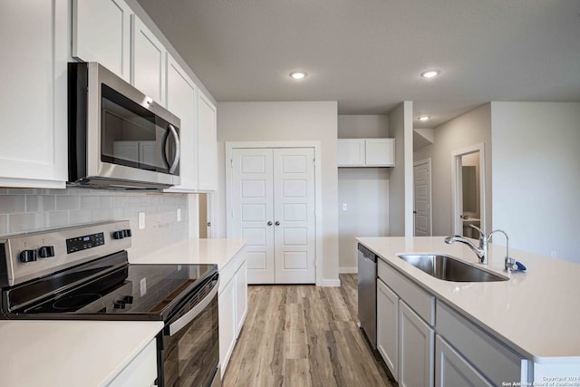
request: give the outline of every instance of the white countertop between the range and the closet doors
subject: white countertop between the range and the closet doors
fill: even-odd
[[[246,239],[185,239],[140,256],[129,256],[131,264],[217,264],[221,270],[246,246]]]

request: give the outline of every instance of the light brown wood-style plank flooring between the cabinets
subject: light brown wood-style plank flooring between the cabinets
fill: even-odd
[[[223,385],[391,386],[357,327],[357,276],[341,287],[250,285]]]

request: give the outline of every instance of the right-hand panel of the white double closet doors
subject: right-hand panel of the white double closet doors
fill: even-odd
[[[314,284],[314,149],[274,150],[275,283]]]

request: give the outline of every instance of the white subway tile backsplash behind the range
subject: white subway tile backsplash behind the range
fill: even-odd
[[[177,210],[181,209],[181,221]],[[145,228],[138,229],[138,214]],[[149,252],[188,237],[188,199],[104,189],[0,189],[0,237],[105,220],[130,220],[131,251]]]

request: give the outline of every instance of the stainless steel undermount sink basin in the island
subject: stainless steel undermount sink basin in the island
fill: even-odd
[[[424,271],[430,276],[453,282],[490,282],[507,281],[506,276],[499,276],[478,266],[472,266],[452,256],[436,254],[401,254],[402,260]]]

